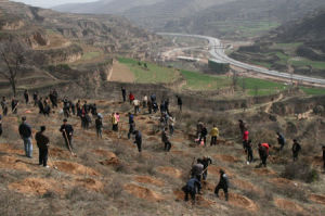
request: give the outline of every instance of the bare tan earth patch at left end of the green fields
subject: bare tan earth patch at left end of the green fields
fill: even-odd
[[[107,77],[108,81],[134,82],[134,74],[130,68],[119,62],[114,62],[113,69]]]

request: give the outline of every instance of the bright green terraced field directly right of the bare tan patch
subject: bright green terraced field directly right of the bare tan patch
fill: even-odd
[[[173,68],[162,67],[152,63],[146,63],[147,68],[145,68],[143,62],[141,63],[142,65],[139,65],[138,61],[126,58],[119,58],[118,61],[130,68],[130,71],[134,74],[135,82],[172,82],[180,77],[180,74]]]

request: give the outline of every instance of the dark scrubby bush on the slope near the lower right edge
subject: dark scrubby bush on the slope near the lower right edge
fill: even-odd
[[[287,179],[299,179],[308,183],[314,182],[320,178],[318,173],[311,168],[306,162],[287,164],[282,173],[282,177]]]

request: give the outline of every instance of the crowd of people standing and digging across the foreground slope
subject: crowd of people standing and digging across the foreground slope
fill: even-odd
[[[127,97],[127,91],[122,87],[122,100],[126,102],[126,97]],[[34,93],[34,104],[39,106],[40,113],[44,115],[50,115],[51,111],[51,105],[52,109],[57,107],[58,103],[58,94],[56,90],[51,90],[49,97],[46,97],[43,100],[41,97],[38,97],[38,92]],[[28,91],[24,92],[24,98],[26,104],[29,103],[29,94]],[[157,104],[157,99],[155,94],[152,94],[150,98],[144,96],[142,102],[140,100],[136,100],[134,94],[130,92],[129,94],[129,101],[130,104],[134,106],[134,113],[132,114],[129,112],[128,117],[129,117],[129,132],[128,132],[128,138],[130,139],[131,136],[134,136],[134,144],[138,148],[138,151],[141,153],[142,152],[142,134],[139,129],[135,128],[135,119],[134,115],[140,113],[140,106],[143,109],[147,107],[148,113],[152,113],[154,111],[155,113],[159,110],[160,111],[160,126],[161,126],[161,142],[164,143],[165,148],[164,150],[166,152],[169,152],[172,144],[170,141],[170,136],[173,136],[174,132],[174,124],[176,124],[176,118],[172,116],[169,110],[169,100],[162,100],[160,105],[158,106]],[[177,103],[182,111],[182,99],[177,96]],[[93,117],[95,117],[95,129],[96,129],[96,135],[99,138],[102,138],[102,132],[103,132],[103,116],[102,114],[98,113],[96,110],[96,104],[88,104],[87,101],[81,104],[80,100],[74,104],[70,100],[67,98],[63,99],[63,113],[65,116],[65,119],[63,120],[63,125],[60,128],[60,131],[63,136],[63,139],[65,141],[66,148],[72,152],[75,149],[73,144],[73,137],[74,137],[74,127],[68,124],[68,117],[70,117],[72,113],[73,115],[77,115],[81,119],[81,127],[83,129],[89,128],[89,124],[91,123],[91,117],[90,114],[92,114]],[[12,99],[12,113],[16,113],[17,111],[17,105],[18,101],[13,98]],[[6,104],[6,99],[5,97],[2,98],[1,101],[1,106],[2,106],[2,112],[3,116],[8,114],[8,104]],[[2,132],[1,128],[1,118],[0,116],[0,132]],[[120,114],[117,112],[114,112],[110,116],[112,119],[112,130],[113,131],[118,131],[119,130],[119,122],[120,122]],[[240,130],[240,135],[243,137],[243,148],[247,154],[247,164],[253,162],[253,151],[252,151],[252,141],[249,139],[249,131],[248,127],[246,124],[239,119],[238,120],[238,127]],[[208,134],[211,137],[210,140],[210,145],[217,145],[218,144],[218,137],[219,137],[219,129],[216,125],[212,126],[212,128],[209,130],[207,129],[207,126],[198,122],[197,123],[197,128],[196,128],[196,142],[198,144],[207,145],[207,136]],[[37,142],[37,147],[39,149],[39,165],[42,165],[44,167],[48,166],[48,157],[49,157],[49,144],[50,144],[50,139],[46,135],[46,126],[41,126],[39,131],[35,136],[35,140]],[[168,132],[169,130],[169,132]],[[25,154],[27,157],[32,157],[32,128],[31,126],[27,123],[27,119],[25,116],[22,117],[22,124],[20,125],[18,128],[20,136],[23,139],[24,142],[24,149],[25,149]],[[285,137],[281,132],[276,132],[277,135],[277,141],[280,144],[280,150],[283,150],[286,140]],[[261,160],[261,166],[266,167],[266,160],[269,157],[269,151],[270,151],[271,145],[269,143],[263,143],[260,142],[258,143],[258,153]],[[299,152],[301,151],[301,145],[298,143],[298,141],[295,139],[294,144],[292,144],[292,158],[294,161],[298,160]],[[325,147],[323,147],[323,160],[324,160],[324,168],[325,168]],[[185,201],[188,201],[188,196],[191,195],[193,202],[195,202],[195,196],[196,194],[200,193],[203,181],[207,180],[208,176],[208,166],[212,164],[212,160],[208,156],[204,156],[203,158],[196,160],[195,164],[192,164],[191,168],[191,177],[187,180],[186,185],[182,188],[182,190],[185,193]],[[222,189],[225,195],[225,200],[229,200],[229,178],[223,169],[220,169],[220,181],[214,188],[214,194],[216,196],[219,196],[219,191]]]

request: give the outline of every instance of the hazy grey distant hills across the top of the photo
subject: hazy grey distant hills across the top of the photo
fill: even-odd
[[[310,11],[324,7],[322,0],[160,0],[150,1],[150,4],[146,4],[147,1],[132,1],[139,5],[126,2],[122,10],[116,5],[116,2],[122,4],[125,1],[62,5],[55,10],[121,14],[134,24],[154,31],[243,39],[264,34],[287,21],[300,18]]]

